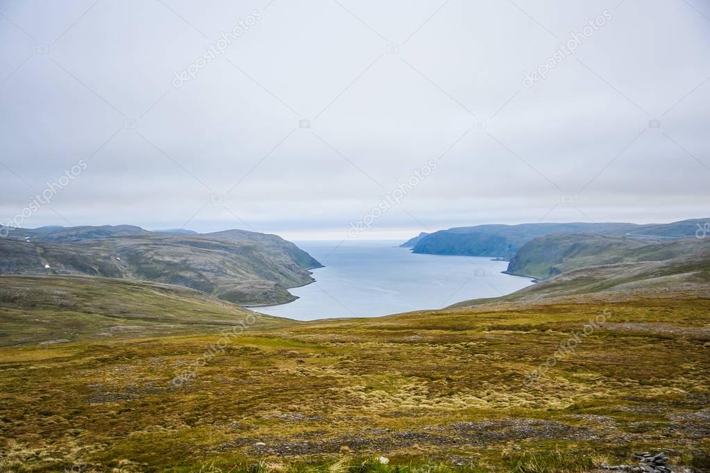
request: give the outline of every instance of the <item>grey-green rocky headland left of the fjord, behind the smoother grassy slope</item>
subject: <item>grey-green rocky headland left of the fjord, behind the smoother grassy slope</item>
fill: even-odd
[[[0,274],[153,281],[244,305],[294,300],[288,288],[311,283],[308,270],[321,266],[290,241],[242,230],[185,235],[122,225],[12,234],[0,239]]]

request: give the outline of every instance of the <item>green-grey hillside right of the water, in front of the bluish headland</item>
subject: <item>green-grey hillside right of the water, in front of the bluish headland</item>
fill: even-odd
[[[530,241],[507,273],[540,278],[500,298],[452,307],[546,300],[633,300],[692,292],[710,298],[710,239],[649,240],[555,234]]]

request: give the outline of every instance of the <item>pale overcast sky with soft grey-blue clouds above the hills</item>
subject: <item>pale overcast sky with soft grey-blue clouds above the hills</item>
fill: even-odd
[[[708,217],[701,0],[0,1],[0,221]]]

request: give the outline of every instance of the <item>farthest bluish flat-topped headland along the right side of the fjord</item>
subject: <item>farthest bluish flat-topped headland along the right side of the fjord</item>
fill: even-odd
[[[498,256],[510,259],[520,247],[548,234],[593,233],[637,238],[674,239],[694,237],[698,224],[710,219],[693,219],[671,224],[630,223],[540,223],[519,225],[477,225],[441,230],[415,237],[413,253],[464,256]],[[410,240],[411,241],[411,240]]]

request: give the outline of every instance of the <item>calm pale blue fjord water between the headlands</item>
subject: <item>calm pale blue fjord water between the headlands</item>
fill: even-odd
[[[316,282],[290,289],[292,303],[253,308],[295,320],[376,317],[438,309],[461,300],[513,293],[530,278],[503,274],[506,261],[413,254],[400,241],[296,241],[325,268]]]

